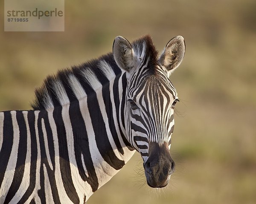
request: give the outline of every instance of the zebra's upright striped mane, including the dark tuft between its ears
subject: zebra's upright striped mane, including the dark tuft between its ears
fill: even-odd
[[[157,64],[158,53],[149,35],[131,43],[135,54],[149,57],[148,68],[154,74],[154,65]],[[85,62],[78,66],[72,66],[58,71],[44,79],[40,88],[35,90],[35,99],[31,103],[33,110],[52,109],[64,106],[70,102],[77,101],[88,96],[121,74],[116,65],[113,54],[109,53]]]

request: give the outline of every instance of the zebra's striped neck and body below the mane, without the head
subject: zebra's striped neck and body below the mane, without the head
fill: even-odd
[[[14,203],[84,203],[109,181],[134,154],[125,135],[125,85],[120,75],[64,106],[0,112],[0,149],[9,157],[0,167],[0,201],[15,189]],[[6,169],[9,176],[1,174]]]

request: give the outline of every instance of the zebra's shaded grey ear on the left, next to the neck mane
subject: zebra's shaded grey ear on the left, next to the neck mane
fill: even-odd
[[[117,36],[113,42],[113,56],[119,68],[130,71],[133,68],[133,51],[130,42]]]

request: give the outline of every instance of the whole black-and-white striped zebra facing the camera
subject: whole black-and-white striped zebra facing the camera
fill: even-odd
[[[165,187],[184,54],[181,36],[160,55],[149,35],[118,36],[113,53],[47,77],[32,110],[0,112],[0,203],[86,203],[136,151],[147,184]]]

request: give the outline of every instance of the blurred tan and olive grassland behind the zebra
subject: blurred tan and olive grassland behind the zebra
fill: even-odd
[[[147,187],[135,153],[89,204],[256,203],[255,0],[66,0],[64,32],[3,32],[0,18],[0,111],[29,109],[48,74],[112,51],[117,35],[151,34],[159,51],[185,38],[169,186]]]

